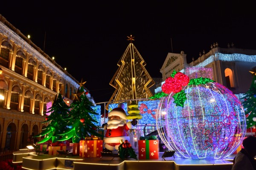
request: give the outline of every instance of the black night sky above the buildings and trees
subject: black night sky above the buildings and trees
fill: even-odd
[[[127,36],[135,36],[151,77],[162,77],[169,52],[184,51],[191,62],[213,42],[256,49],[256,9],[249,2],[25,0],[1,2],[0,14],[79,82],[87,81],[96,102],[108,102]]]

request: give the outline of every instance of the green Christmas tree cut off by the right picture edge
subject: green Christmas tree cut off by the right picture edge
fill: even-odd
[[[248,115],[246,118],[247,129],[256,125],[256,71],[250,71],[250,73],[253,74],[253,81],[245,96],[241,98],[244,99],[242,102],[244,113]]]

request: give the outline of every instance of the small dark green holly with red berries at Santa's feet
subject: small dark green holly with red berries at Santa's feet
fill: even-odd
[[[125,142],[122,142],[118,147],[118,153],[119,157],[124,160],[125,158],[137,159],[137,155],[134,152],[134,149],[131,147],[131,143],[128,142],[128,140],[125,140]]]

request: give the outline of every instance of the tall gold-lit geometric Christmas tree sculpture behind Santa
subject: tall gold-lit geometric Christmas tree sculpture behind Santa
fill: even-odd
[[[128,40],[130,44],[117,63],[119,68],[110,82],[116,90],[106,108],[116,101],[146,99],[152,96],[149,88],[154,85],[154,80],[146,71],[145,61],[132,43],[134,37],[131,35]]]

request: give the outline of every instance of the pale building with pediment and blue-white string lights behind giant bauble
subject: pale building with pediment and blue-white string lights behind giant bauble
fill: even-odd
[[[256,68],[256,50],[236,48],[234,44],[221,48],[216,42],[211,45],[208,53],[203,51],[198,59],[192,58],[191,63],[186,62],[183,51],[180,54],[169,53],[160,69],[163,82],[171,76],[173,70],[184,73],[188,67],[212,68],[212,79],[215,82],[226,86],[234,94],[242,95],[250,88],[252,74],[249,71]],[[161,85],[158,86],[156,93],[161,91]]]

